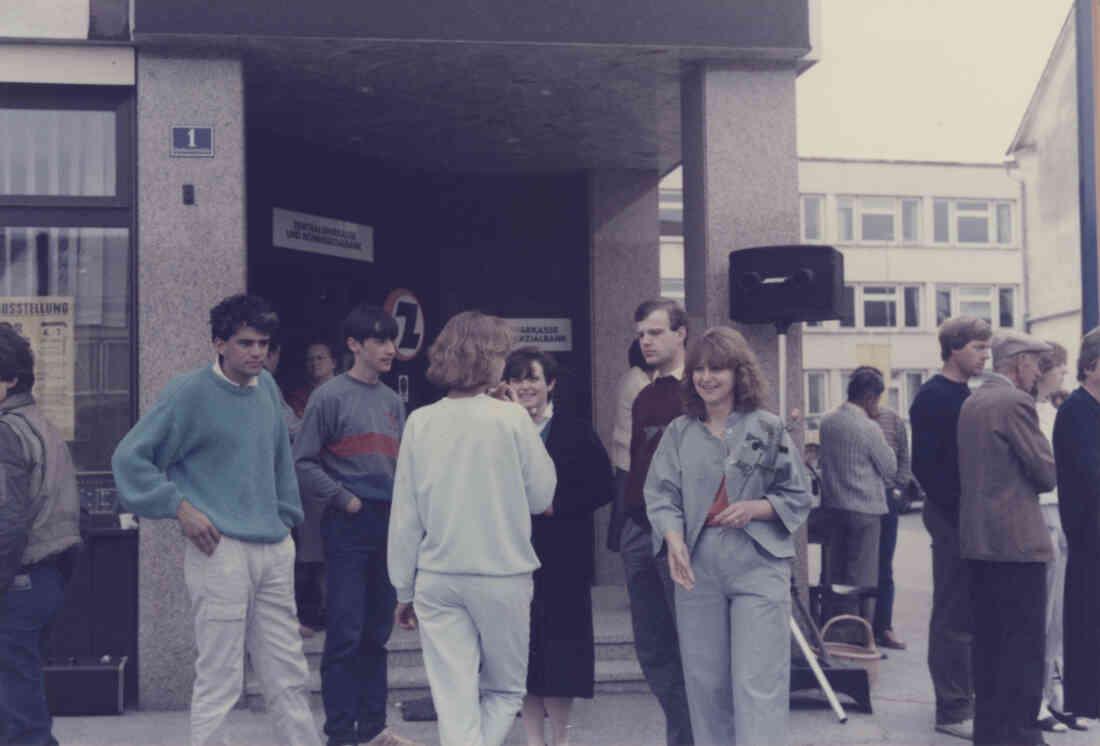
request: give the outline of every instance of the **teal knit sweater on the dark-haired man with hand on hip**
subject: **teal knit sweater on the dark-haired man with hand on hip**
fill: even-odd
[[[274,379],[237,386],[205,365],[176,376],[114,450],[122,505],[175,518],[179,503],[242,541],[282,541],[302,520]]]

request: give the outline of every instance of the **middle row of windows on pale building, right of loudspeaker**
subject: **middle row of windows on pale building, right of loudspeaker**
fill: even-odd
[[[924,310],[924,296],[935,296],[935,317]],[[810,321],[820,329],[930,329],[953,316],[975,316],[992,327],[1016,326],[1016,288],[1012,285],[845,285],[843,315],[836,321]]]

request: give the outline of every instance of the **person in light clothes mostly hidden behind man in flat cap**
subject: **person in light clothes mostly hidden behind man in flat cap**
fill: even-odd
[[[1062,383],[1066,377],[1066,348],[1052,341],[1047,341],[1047,344],[1050,351],[1043,352],[1038,356],[1040,376],[1035,382],[1035,412],[1038,415],[1038,427],[1043,431],[1043,437],[1053,443],[1057,407],[1052,402],[1052,395],[1062,390]],[[1062,714],[1066,710],[1062,689],[1065,671],[1062,656],[1062,610],[1066,592],[1066,535],[1062,530],[1062,517],[1058,515],[1057,489],[1041,494],[1038,503],[1050,537],[1054,559],[1046,563],[1046,654],[1043,660],[1043,701],[1040,704],[1036,725],[1044,731],[1057,733],[1067,729],[1066,724],[1052,713],[1053,710]]]

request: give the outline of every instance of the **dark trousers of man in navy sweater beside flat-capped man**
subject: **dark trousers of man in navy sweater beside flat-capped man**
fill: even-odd
[[[974,602],[970,566],[959,556],[956,519],[924,501],[924,526],[932,536],[932,618],[928,672],[936,692],[936,723],[974,717]]]

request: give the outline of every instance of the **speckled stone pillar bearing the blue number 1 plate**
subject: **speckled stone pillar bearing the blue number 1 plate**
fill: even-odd
[[[213,128],[215,157],[169,157],[173,125]],[[195,205],[184,205],[185,184]],[[245,283],[244,84],[239,59],[138,58],[138,339],[141,410],[177,373],[209,363],[208,312]],[[195,636],[175,520],[143,520],[139,693],[185,709]]]

